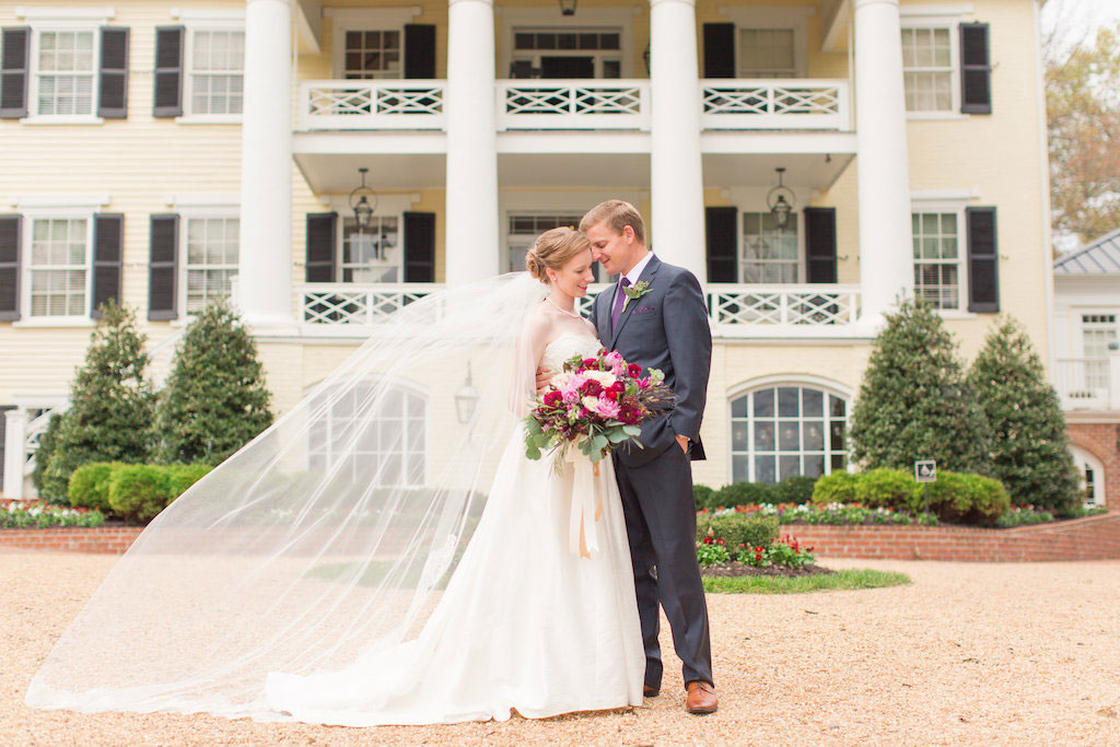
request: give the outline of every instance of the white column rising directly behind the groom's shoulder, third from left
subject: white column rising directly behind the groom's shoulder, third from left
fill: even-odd
[[[653,248],[704,282],[696,0],[650,0],[650,94]]]

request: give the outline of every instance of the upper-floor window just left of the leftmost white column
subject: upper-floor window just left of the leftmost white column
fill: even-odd
[[[235,29],[192,34],[190,113],[241,114],[244,104],[245,32]]]

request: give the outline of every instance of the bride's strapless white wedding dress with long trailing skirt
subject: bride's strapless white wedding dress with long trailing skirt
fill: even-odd
[[[590,335],[563,333],[542,365],[559,371],[599,347]],[[605,459],[599,494],[589,495],[590,465],[576,455],[584,464],[558,475],[551,455],[525,458],[517,429],[418,636],[364,651],[342,671],[272,672],[269,706],[311,723],[373,726],[641,704],[645,654],[618,488]]]

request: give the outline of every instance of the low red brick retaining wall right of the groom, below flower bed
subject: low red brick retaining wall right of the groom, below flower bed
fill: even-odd
[[[818,555],[889,560],[1120,559],[1120,513],[1017,529],[965,526],[821,526],[786,524]]]

